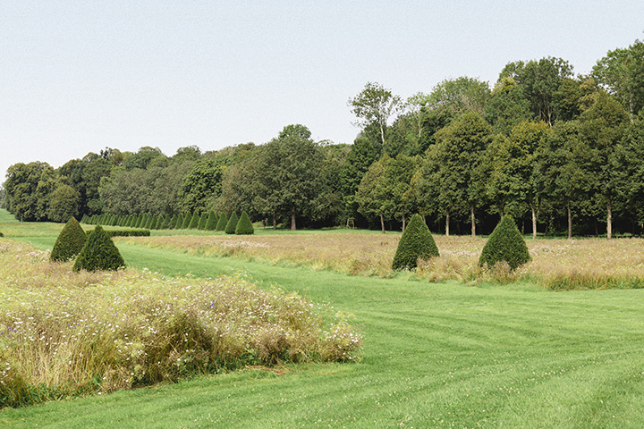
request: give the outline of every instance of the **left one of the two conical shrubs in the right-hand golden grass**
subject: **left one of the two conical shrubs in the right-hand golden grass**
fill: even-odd
[[[438,248],[428,226],[419,214],[411,216],[411,221],[402,232],[398,241],[398,249],[394,256],[394,270],[412,269],[418,266],[419,257],[428,259],[438,257]]]

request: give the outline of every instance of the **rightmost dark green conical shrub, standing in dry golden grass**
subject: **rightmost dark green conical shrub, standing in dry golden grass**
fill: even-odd
[[[528,246],[510,215],[505,215],[490,234],[481,252],[479,266],[492,267],[500,261],[507,262],[511,270],[530,261]]]

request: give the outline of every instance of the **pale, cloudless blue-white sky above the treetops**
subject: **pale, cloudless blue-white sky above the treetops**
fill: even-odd
[[[105,147],[352,143],[367,82],[403,98],[553,56],[586,74],[644,38],[641,0],[0,1],[0,182]]]

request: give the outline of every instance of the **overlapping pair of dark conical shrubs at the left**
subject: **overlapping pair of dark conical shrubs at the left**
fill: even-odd
[[[123,257],[107,231],[97,225],[86,233],[73,217],[58,234],[49,258],[53,262],[67,262],[76,258],[73,271],[118,270],[125,267]]]

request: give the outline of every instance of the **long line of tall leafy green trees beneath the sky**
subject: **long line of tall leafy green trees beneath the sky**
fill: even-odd
[[[352,145],[301,124],[265,144],[202,152],[105,148],[58,169],[14,164],[4,206],[22,221],[71,215],[247,211],[269,226],[404,228],[475,235],[513,214],[524,231],[640,233],[644,211],[644,42],[588,75],[547,57],[508,63],[492,88],[443,80],[403,100],[368,82],[347,103]]]

